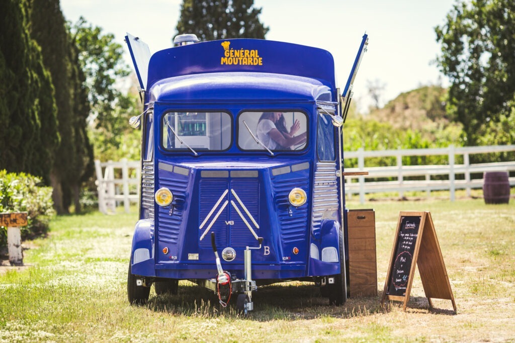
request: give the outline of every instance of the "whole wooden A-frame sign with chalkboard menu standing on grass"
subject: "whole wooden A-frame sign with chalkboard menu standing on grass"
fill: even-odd
[[[403,310],[406,310],[417,265],[430,308],[433,307],[431,298],[449,299],[456,313],[456,303],[431,213],[400,212],[382,305],[385,300],[403,301]]]

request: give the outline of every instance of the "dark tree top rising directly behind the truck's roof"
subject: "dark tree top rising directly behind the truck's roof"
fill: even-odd
[[[254,0],[184,0],[176,30],[195,33],[201,41],[229,38],[265,39]]]

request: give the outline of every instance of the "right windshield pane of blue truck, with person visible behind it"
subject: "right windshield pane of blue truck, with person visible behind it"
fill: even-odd
[[[243,112],[238,116],[238,146],[251,151],[303,150],[307,129],[307,116],[302,112]]]

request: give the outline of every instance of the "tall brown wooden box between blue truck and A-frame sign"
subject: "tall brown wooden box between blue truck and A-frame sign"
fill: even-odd
[[[377,296],[374,210],[349,210],[349,283],[351,297]]]

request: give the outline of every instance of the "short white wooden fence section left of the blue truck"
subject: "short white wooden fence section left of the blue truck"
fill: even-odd
[[[98,210],[104,214],[116,212],[119,203],[129,212],[130,203],[140,201],[140,161],[100,162],[95,160],[98,190]]]

